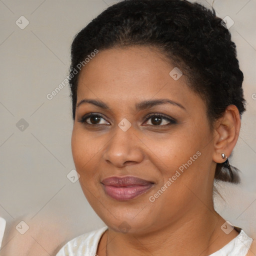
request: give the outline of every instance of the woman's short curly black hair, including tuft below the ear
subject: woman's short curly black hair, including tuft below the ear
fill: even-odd
[[[79,63],[85,63],[95,49],[132,45],[153,46],[182,70],[188,86],[205,101],[211,124],[230,104],[240,116],[245,110],[236,47],[213,8],[187,0],[123,0],[101,12],[74,37],[69,69],[73,120]],[[227,174],[223,166],[217,163],[215,178],[239,182],[238,174],[231,169]]]

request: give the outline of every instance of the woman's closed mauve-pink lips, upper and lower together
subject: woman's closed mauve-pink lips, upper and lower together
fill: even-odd
[[[153,182],[134,176],[109,177],[101,181],[105,193],[116,200],[129,200],[150,189]]]

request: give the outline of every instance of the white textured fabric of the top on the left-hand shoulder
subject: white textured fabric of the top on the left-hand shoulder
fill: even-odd
[[[81,234],[68,241],[56,254],[56,256],[91,256],[96,254],[100,237],[107,229],[104,226],[100,229]]]

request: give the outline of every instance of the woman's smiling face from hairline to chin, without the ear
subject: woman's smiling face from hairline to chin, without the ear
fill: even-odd
[[[135,46],[99,51],[80,71],[74,164],[90,205],[116,231],[162,229],[212,204],[206,106],[173,68]]]

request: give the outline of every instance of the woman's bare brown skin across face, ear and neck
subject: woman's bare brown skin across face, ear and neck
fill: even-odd
[[[77,103],[101,100],[110,109],[91,103],[76,107],[71,138],[79,182],[88,202],[108,226],[97,254],[106,255],[209,255],[223,247],[237,232],[225,234],[225,220],[214,211],[212,187],[216,162],[228,157],[240,129],[238,109],[226,108],[210,128],[202,98],[187,86],[185,74],[170,77],[173,69],[156,49],[133,46],[99,51],[80,71]],[[182,105],[158,104],[136,110],[142,100],[167,98]],[[87,113],[95,119],[79,120]],[[155,125],[149,113],[175,118]],[[118,123],[131,126],[123,131]],[[94,126],[93,126],[94,125]],[[199,151],[153,202],[154,195],[176,170]],[[145,193],[126,201],[108,196],[100,181],[110,176],[135,176],[154,182]],[[128,227],[119,229],[121,223]],[[106,247],[107,243],[107,249]]]

